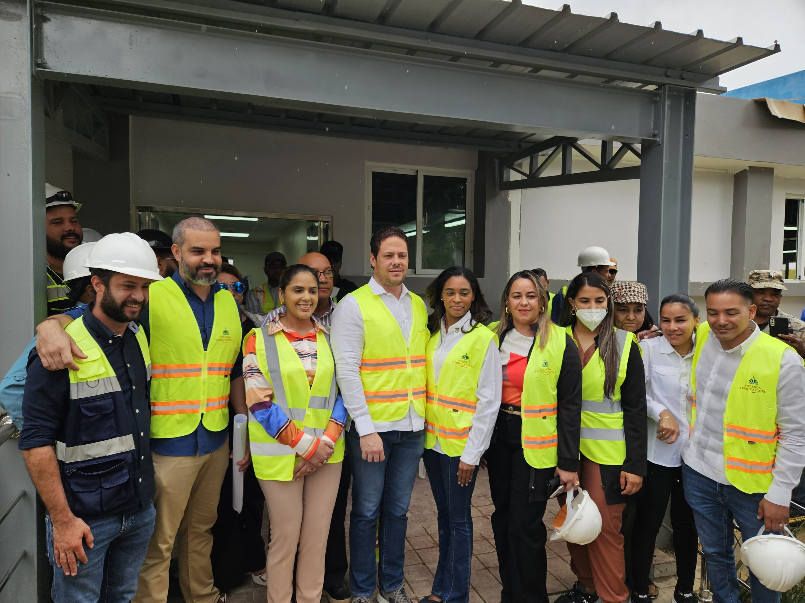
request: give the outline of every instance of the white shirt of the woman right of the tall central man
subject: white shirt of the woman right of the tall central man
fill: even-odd
[[[439,345],[433,355],[433,372],[437,383],[444,359],[448,357],[453,347],[456,347],[456,343],[459,343],[464,337],[464,330],[469,330],[471,320],[468,312],[459,322],[451,326],[449,331],[445,331],[444,320],[442,321]],[[481,457],[489,448],[489,441],[492,439],[495,420],[497,420],[497,411],[501,407],[502,387],[501,363],[497,356],[497,344],[492,339],[484,356],[484,362],[481,364],[481,375],[478,377],[478,387],[475,390],[478,401],[473,414],[473,426],[469,429],[467,445],[464,447],[464,452],[461,453],[461,460],[468,465],[477,465],[481,462]],[[436,440],[433,449],[444,454],[439,440]]]

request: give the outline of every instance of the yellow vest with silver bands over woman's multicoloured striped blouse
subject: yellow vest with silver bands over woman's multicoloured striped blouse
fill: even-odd
[[[267,334],[268,327],[254,329],[254,354],[258,367],[274,389],[271,402],[283,409],[288,419],[304,433],[322,437],[336,402],[336,363],[328,336],[316,334],[316,376],[308,384],[308,372],[283,331]],[[248,341],[249,335],[246,335]],[[245,343],[244,343],[245,345]],[[266,433],[249,413],[249,441],[254,474],[258,479],[290,482],[294,468],[301,460],[291,446],[280,444]],[[335,451],[328,463],[344,460],[344,434],[336,441]]]

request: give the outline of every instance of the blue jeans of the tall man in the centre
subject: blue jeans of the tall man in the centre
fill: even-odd
[[[408,504],[425,448],[424,429],[378,435],[386,454],[386,460],[381,462],[363,460],[361,440],[354,426],[346,437],[353,468],[349,589],[354,597],[371,597],[375,585],[386,593],[403,585]],[[381,519],[379,565],[374,557],[378,518]]]

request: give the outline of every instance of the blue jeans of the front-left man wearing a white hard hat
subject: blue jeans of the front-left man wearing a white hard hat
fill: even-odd
[[[53,560],[53,525],[47,515],[47,560],[53,566],[54,603],[129,603],[137,592],[155,517],[151,504],[132,515],[85,519],[93,533],[93,548],[84,543],[87,563],[79,561],[76,575],[65,576]]]

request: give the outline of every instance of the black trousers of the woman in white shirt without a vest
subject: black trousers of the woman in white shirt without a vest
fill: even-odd
[[[671,498],[671,527],[676,555],[676,589],[691,593],[696,581],[698,536],[693,511],[682,489],[682,467],[663,467],[649,461],[643,480],[642,498],[638,498],[632,532],[632,579],[634,592],[649,590],[649,572],[654,559],[654,543],[663,524],[668,498]]]

